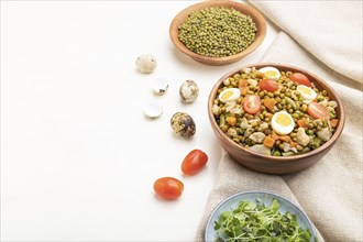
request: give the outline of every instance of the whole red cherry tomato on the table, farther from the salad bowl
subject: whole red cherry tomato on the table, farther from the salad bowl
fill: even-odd
[[[174,177],[162,177],[155,180],[154,191],[164,199],[174,200],[182,196],[184,184]]]

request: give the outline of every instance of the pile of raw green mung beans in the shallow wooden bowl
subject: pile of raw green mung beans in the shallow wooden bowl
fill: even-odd
[[[257,28],[235,9],[215,7],[190,13],[178,31],[179,41],[191,52],[222,57],[249,47]]]

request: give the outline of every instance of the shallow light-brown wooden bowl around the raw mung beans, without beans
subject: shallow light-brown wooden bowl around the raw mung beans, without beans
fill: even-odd
[[[211,57],[211,56],[199,55],[188,50],[178,38],[178,34],[179,34],[178,28],[180,26],[180,24],[184,23],[184,21],[186,21],[189,13],[211,7],[233,8],[245,15],[250,15],[257,28],[254,42],[243,52],[226,57]],[[263,15],[260,14],[260,12],[257,12],[255,9],[253,9],[250,6],[240,2],[229,1],[229,0],[209,0],[193,4],[184,9],[182,12],[179,12],[170,23],[169,35],[175,46],[186,55],[194,58],[195,61],[213,66],[228,65],[241,59],[243,56],[250,54],[261,45],[261,43],[263,42],[266,35],[266,21],[263,18]]]

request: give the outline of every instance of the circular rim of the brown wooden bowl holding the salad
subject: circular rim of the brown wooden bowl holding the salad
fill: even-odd
[[[215,98],[217,97],[217,90],[219,89],[219,87],[221,86],[222,81],[230,77],[231,75],[235,74],[235,73],[240,73],[243,68],[252,68],[252,67],[256,67],[256,68],[262,68],[262,67],[266,67],[266,66],[273,66],[273,67],[276,67],[277,69],[289,69],[289,70],[297,70],[297,72],[300,72],[302,74],[306,74],[310,77],[314,78],[314,81],[318,82],[318,86],[326,86],[328,90],[328,95],[329,96],[334,96],[336,99],[334,101],[338,102],[338,109],[340,111],[340,117],[339,117],[339,122],[338,122],[338,127],[336,128],[336,131],[333,133],[333,135],[329,139],[329,141],[327,141],[324,144],[322,144],[320,147],[316,148],[316,150],[312,150],[312,151],[309,151],[307,153],[304,153],[304,154],[297,154],[297,155],[292,155],[292,156],[273,156],[273,155],[263,155],[263,154],[260,154],[260,153],[256,153],[254,151],[251,151],[249,148],[245,148],[239,144],[237,144],[234,141],[232,141],[229,136],[226,135],[226,133],[219,128],[216,119],[215,119],[215,116],[212,113],[212,106],[213,106],[213,100]],[[322,85],[320,85],[322,84]],[[316,154],[319,154],[320,152],[327,150],[327,148],[330,148],[338,140],[338,138],[340,136],[340,134],[342,133],[343,131],[343,128],[344,128],[344,123],[345,123],[345,111],[344,111],[344,108],[343,108],[343,105],[342,105],[342,101],[340,99],[340,97],[338,96],[338,94],[334,91],[334,89],[327,82],[324,81],[322,78],[318,77],[317,75],[308,72],[308,70],[305,70],[300,67],[296,67],[296,66],[292,66],[292,65],[286,65],[286,64],[283,64],[283,63],[254,63],[254,64],[249,64],[249,65],[244,65],[242,67],[238,67],[238,68],[234,68],[233,70],[227,73],[226,75],[223,75],[216,84],[215,86],[212,87],[210,94],[209,94],[209,98],[208,98],[208,117],[209,117],[209,121],[212,125],[212,130],[215,132],[218,132],[218,134],[220,136],[223,136],[226,138],[226,141],[228,142],[228,145],[231,145],[233,148],[237,148],[237,150],[242,150],[246,153],[250,153],[252,155],[255,155],[256,157],[261,157],[261,158],[267,158],[267,160],[273,160],[275,162],[279,162],[279,163],[289,163],[289,162],[293,162],[295,160],[299,160],[299,158],[308,158],[308,157],[311,157]],[[216,129],[215,129],[216,128]],[[218,135],[217,135],[218,136]]]

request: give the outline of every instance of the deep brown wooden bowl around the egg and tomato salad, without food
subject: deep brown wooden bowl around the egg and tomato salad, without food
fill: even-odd
[[[328,96],[331,100],[336,100],[338,102],[337,108],[337,116],[339,119],[338,125],[336,128],[336,131],[333,135],[330,138],[329,141],[327,141],[323,145],[320,147],[307,152],[305,154],[294,155],[294,156],[270,156],[270,155],[262,155],[257,154],[255,152],[252,152],[245,147],[242,147],[241,145],[237,144],[234,141],[232,141],[230,138],[228,138],[223,131],[219,128],[213,112],[213,101],[217,97],[217,91],[220,87],[223,85],[223,80],[230,76],[233,76],[234,74],[238,74],[241,72],[244,67],[256,67],[257,69],[266,66],[274,66],[280,72],[298,72],[305,74],[311,81],[315,82],[318,89],[324,89],[328,91]],[[261,63],[261,64],[251,64],[244,67],[240,67],[238,69],[234,69],[228,74],[226,74],[222,78],[220,78],[215,87],[212,88],[209,99],[208,99],[208,117],[210,124],[212,127],[212,130],[215,134],[217,135],[217,139],[220,143],[220,145],[227,151],[227,153],[237,162],[241,163],[242,165],[257,170],[262,173],[268,173],[268,174],[290,174],[300,172],[302,169],[308,168],[309,166],[314,165],[318,161],[320,161],[329,151],[332,148],[332,146],[336,144],[338,138],[343,131],[344,122],[345,122],[345,114],[344,109],[341,99],[337,95],[337,92],[321,78],[318,76],[294,67],[288,66],[284,64],[276,64],[276,63]]]

